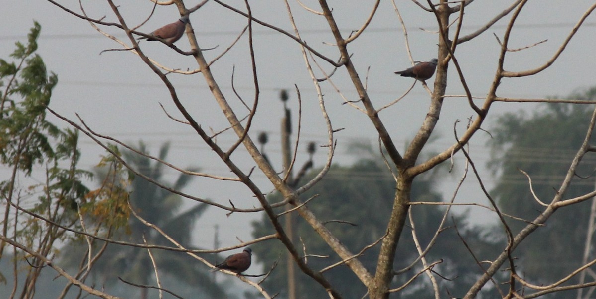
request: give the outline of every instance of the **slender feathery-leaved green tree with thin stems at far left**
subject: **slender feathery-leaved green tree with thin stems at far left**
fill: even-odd
[[[35,284],[45,265],[42,258],[57,253],[57,242],[65,241],[64,229],[80,229],[77,205],[85,204],[88,189],[83,180],[91,176],[78,168],[79,135],[60,129],[46,120],[52,89],[58,83],[48,73],[44,61],[36,54],[41,26],[35,22],[27,44],[17,42],[10,56],[0,59],[0,158],[10,169],[0,182],[4,212],[0,225],[0,258],[7,244],[20,244],[35,250],[39,256],[15,251],[14,269],[26,273],[24,281],[13,275],[14,288],[22,287],[21,298],[35,295]],[[45,220],[41,220],[45,219]],[[17,267],[26,258],[30,267]],[[7,283],[8,269],[0,269],[0,281]],[[14,296],[14,293],[13,293]]]

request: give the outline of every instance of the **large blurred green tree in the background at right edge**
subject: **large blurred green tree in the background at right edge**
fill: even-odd
[[[596,88],[570,97],[593,101]],[[499,175],[492,194],[504,213],[533,219],[544,210],[534,199],[520,170],[532,178],[536,197],[548,203],[585,138],[586,124],[592,114],[592,107],[588,106],[546,103],[530,116],[507,113],[499,118],[492,130],[489,167]],[[594,154],[583,157],[564,198],[594,190],[595,163]],[[570,273],[581,266],[589,213],[588,201],[562,208],[546,226],[524,241],[526,245],[516,250],[515,256],[524,261],[520,270],[528,279],[550,284],[561,279],[561,273]],[[526,225],[519,220],[508,223],[514,232]],[[577,282],[572,279],[569,283]]]

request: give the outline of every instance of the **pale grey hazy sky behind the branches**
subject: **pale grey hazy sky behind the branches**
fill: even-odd
[[[60,1],[72,10],[79,11],[75,1]],[[187,7],[192,7],[200,1],[187,1]],[[244,10],[243,1],[226,1],[230,5]],[[316,1],[303,1],[306,5],[317,10]],[[437,34],[436,20],[411,1],[396,1],[408,29],[409,45],[414,60],[427,61],[436,57]],[[424,2],[424,1],[423,1]],[[550,58],[561,42],[593,1],[529,1],[517,20],[519,27],[511,36],[511,48],[521,48],[548,39],[530,49],[511,52],[505,59],[507,70],[526,70],[543,64]],[[330,1],[333,13],[342,28],[344,36],[351,30],[358,29],[370,14],[374,1]],[[465,11],[462,35],[473,32],[483,26],[486,21],[500,13],[513,1],[476,1]],[[153,5],[149,1],[116,1],[128,22],[135,26],[151,13]],[[282,1],[259,0],[250,1],[255,17],[268,21],[275,26],[290,30],[287,12]],[[108,5],[101,0],[83,1],[87,13],[94,18],[105,16],[106,21],[116,21]],[[338,58],[333,37],[328,31],[324,18],[306,12],[296,2],[290,3],[294,12],[297,26],[302,30],[303,39],[318,51]],[[171,23],[179,18],[175,7],[157,7],[151,20],[141,27],[141,31],[151,32],[163,24]],[[82,119],[96,132],[119,138],[122,141],[136,145],[142,139],[148,144],[153,154],[157,154],[159,146],[166,141],[172,142],[170,160],[182,167],[198,166],[204,172],[216,175],[230,175],[223,163],[203,145],[190,127],[172,122],[163,113],[159,103],[162,103],[169,113],[182,118],[175,110],[167,89],[159,78],[145,66],[136,55],[125,51],[100,52],[105,49],[120,48],[120,45],[105,38],[93,29],[86,21],[65,13],[49,2],[36,1],[5,1],[0,10],[0,20],[4,26],[0,27],[0,57],[7,58],[14,49],[15,41],[25,41],[26,34],[33,25],[33,20],[42,25],[39,39],[39,54],[49,70],[58,74],[59,83],[52,96],[51,107],[70,119],[75,119],[79,113]],[[210,2],[190,17],[191,24],[202,48],[217,48],[206,51],[207,60],[212,60],[227,48],[246,26],[246,20],[237,14],[227,11],[215,2]],[[457,57],[464,71],[467,83],[474,96],[484,96],[491,84],[496,68],[496,57],[499,44],[493,33],[502,36],[509,17],[499,21],[492,29],[487,30],[479,38],[460,45]],[[554,65],[537,76],[522,79],[504,79],[499,88],[499,96],[541,98],[548,95],[567,95],[579,88],[595,85],[594,70],[596,60],[595,18],[590,16],[586,24],[579,30],[572,42]],[[423,27],[426,31],[418,29]],[[114,33],[118,38],[125,39],[122,32],[115,28],[105,29]],[[234,95],[231,85],[231,74],[235,67],[234,85],[245,101],[251,102],[254,96],[252,70],[247,47],[247,36],[224,57],[212,66],[216,80],[225,92],[226,97],[240,114],[240,101]],[[183,37],[176,43],[184,50],[190,49],[188,40]],[[142,42],[142,49],[151,58],[172,68],[197,68],[192,57],[177,54],[159,42]],[[296,42],[270,29],[254,24],[254,48],[256,52],[257,74],[260,83],[260,105],[253,124],[253,136],[266,131],[269,135],[268,154],[274,164],[281,170],[279,161],[280,118],[282,105],[278,100],[280,89],[290,89],[290,107],[293,109],[294,126],[297,122],[297,101],[294,84],[300,88],[303,104],[302,142],[297,163],[300,165],[305,159],[306,142],[315,141],[324,144],[326,129],[324,126],[319,102],[316,98],[312,80],[308,76],[299,47]],[[360,71],[362,78],[368,73],[368,92],[377,107],[389,103],[403,94],[412,83],[409,78],[402,78],[393,71],[402,70],[410,66],[404,43],[404,35],[393,6],[389,1],[381,2],[379,11],[368,30],[349,46],[353,53],[353,61]],[[325,71],[332,68],[319,60]],[[448,94],[463,94],[461,83],[458,82],[455,67],[450,66]],[[320,76],[320,72],[315,70]],[[209,88],[204,83],[201,74],[181,76],[170,74],[169,78],[175,83],[182,102],[187,105],[190,113],[204,128],[214,131],[224,129],[228,124],[219,110],[215,100],[210,95]],[[434,77],[433,77],[434,79]],[[429,83],[433,82],[429,80]],[[343,69],[339,70],[334,83],[350,100],[356,100],[354,88]],[[430,84],[432,88],[432,84]],[[333,126],[336,129],[345,128],[336,134],[338,140],[336,163],[347,164],[355,160],[353,155],[347,154],[347,145],[352,141],[376,144],[377,135],[368,118],[349,105],[342,105],[343,99],[327,83],[323,84],[325,104],[330,113]],[[403,148],[405,142],[415,135],[426,116],[429,107],[429,96],[417,84],[408,96],[403,98],[392,108],[381,112],[381,119],[392,133],[398,148]],[[482,100],[477,100],[478,104]],[[496,103],[493,105],[488,122],[483,126],[490,129],[496,117],[505,111],[525,110],[531,113],[535,104]],[[473,115],[467,101],[462,98],[445,99],[441,119],[437,125],[436,141],[426,152],[442,150],[454,142],[452,134],[455,120],[465,120]],[[58,122],[58,121],[57,121]],[[463,124],[460,124],[460,128]],[[294,132],[296,130],[294,129]],[[486,134],[479,132],[471,141],[471,152],[479,166],[483,166],[489,158],[485,147]],[[294,136],[295,137],[295,136]],[[235,135],[219,136],[221,145],[231,144]],[[101,148],[88,138],[82,138],[80,147],[83,168],[91,168],[99,161]],[[248,171],[253,163],[245,154],[235,154],[232,158],[239,158],[240,164]],[[319,148],[315,156],[315,165],[321,166],[327,157],[324,148]],[[460,161],[461,160],[460,155]],[[441,188],[443,197],[450,198],[455,183],[461,175],[461,164],[455,175],[445,173],[445,181]],[[494,178],[484,170],[486,182],[490,185]],[[168,172],[167,178],[173,180],[177,176],[173,170]],[[271,190],[268,182],[261,175],[253,175],[256,182],[267,192]],[[211,179],[196,179],[188,193],[204,198],[211,198],[221,203],[234,201],[238,207],[251,207],[257,202],[238,183],[222,183]],[[480,201],[483,196],[476,187],[473,177],[468,176],[465,192],[458,197],[458,201]],[[483,214],[480,210],[473,210],[474,215]],[[221,235],[219,241],[222,246],[238,244],[236,237],[248,241],[250,239],[250,220],[260,218],[260,214],[241,215],[234,213],[226,217],[224,211],[210,208],[209,214],[198,222],[197,245],[210,248],[213,245],[213,225],[219,224]]]

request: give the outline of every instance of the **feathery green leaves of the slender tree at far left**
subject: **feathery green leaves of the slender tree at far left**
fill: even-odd
[[[76,201],[88,192],[82,180],[91,173],[77,169],[78,132],[60,129],[46,120],[45,107],[58,79],[56,74],[48,74],[44,61],[35,54],[40,30],[35,22],[29,43],[16,43],[17,49],[10,56],[18,64],[0,60],[0,82],[5,86],[0,105],[0,158],[2,164],[15,169],[15,175],[20,170],[32,176],[34,166],[45,167],[45,182],[26,188],[31,195],[43,191],[31,211],[44,214],[53,205],[76,210]],[[2,194],[7,198],[18,192],[14,179],[2,182]],[[58,214],[48,217],[66,222],[72,219]]]

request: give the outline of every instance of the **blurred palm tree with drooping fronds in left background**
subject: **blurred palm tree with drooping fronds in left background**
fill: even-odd
[[[162,145],[159,153],[161,160],[165,160],[169,148],[169,143]],[[147,152],[142,142],[139,142],[138,151]],[[159,161],[151,160],[134,152],[125,152],[123,158],[139,173],[176,190],[183,189],[193,178],[181,174],[174,183],[165,183],[163,179],[164,165]],[[134,177],[129,191],[129,201],[135,213],[147,222],[163,229],[185,247],[191,247],[191,232],[194,222],[203,214],[208,205],[198,204],[180,212],[183,201],[179,195],[160,188],[139,176]],[[145,226],[132,215],[125,229],[114,232],[113,239],[142,244],[143,236],[148,244],[172,245],[159,232]],[[197,263],[187,254],[168,250],[152,250],[151,253],[160,274],[164,273],[175,278],[177,282],[200,286],[201,292],[209,294],[209,297],[226,297],[223,289],[213,281],[206,271],[207,267]],[[115,281],[117,277],[135,284],[149,285],[154,277],[153,264],[146,249],[114,244],[108,245],[101,259],[95,264],[93,271],[95,277],[100,276],[105,285],[110,285],[110,282]],[[141,288],[138,298],[147,298],[147,288]]]

